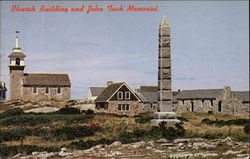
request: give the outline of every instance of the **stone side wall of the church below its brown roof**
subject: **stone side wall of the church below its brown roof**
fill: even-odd
[[[57,87],[50,87],[49,93],[45,94],[45,87],[37,87],[37,93],[33,93],[33,87],[22,87],[22,99],[25,101],[42,100],[69,100],[71,98],[71,88],[61,87],[61,93],[57,93]]]

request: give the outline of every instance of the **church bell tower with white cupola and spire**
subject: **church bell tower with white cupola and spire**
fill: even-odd
[[[16,100],[21,99],[21,78],[24,76],[24,58],[25,54],[22,53],[19,47],[19,37],[20,32],[16,31],[16,46],[13,48],[12,53],[8,56],[10,58],[9,68],[10,68],[10,99]]]

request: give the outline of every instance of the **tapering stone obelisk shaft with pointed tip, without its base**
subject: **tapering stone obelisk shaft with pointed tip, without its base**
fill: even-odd
[[[172,111],[170,25],[163,16],[159,27],[158,105],[161,112]]]

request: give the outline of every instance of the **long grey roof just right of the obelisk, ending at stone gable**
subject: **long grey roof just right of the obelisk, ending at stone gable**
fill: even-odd
[[[176,99],[214,99],[223,89],[183,90],[175,96]]]

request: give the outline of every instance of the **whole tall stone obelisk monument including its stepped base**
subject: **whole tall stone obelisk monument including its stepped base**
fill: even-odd
[[[158,110],[152,123],[167,122],[168,125],[179,123],[172,107],[172,76],[170,25],[163,16],[159,27],[159,55],[158,55]]]

